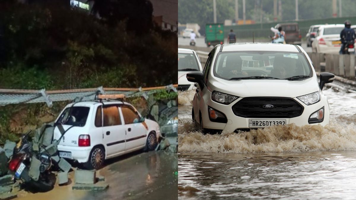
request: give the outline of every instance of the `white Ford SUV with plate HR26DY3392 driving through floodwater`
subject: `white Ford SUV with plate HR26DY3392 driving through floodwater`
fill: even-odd
[[[318,85],[312,61],[297,45],[217,45],[204,71],[188,73],[187,79],[198,83],[192,119],[204,133],[329,123],[322,89],[335,76],[320,73]]]

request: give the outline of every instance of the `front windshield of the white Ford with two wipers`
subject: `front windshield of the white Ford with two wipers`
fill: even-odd
[[[303,79],[311,76],[307,58],[299,52],[220,52],[214,75],[225,80]],[[297,79],[295,77],[298,76]]]

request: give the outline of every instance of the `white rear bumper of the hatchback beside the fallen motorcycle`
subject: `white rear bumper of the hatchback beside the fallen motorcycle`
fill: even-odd
[[[58,151],[71,152],[72,158],[67,159],[77,160],[79,163],[85,163],[88,161],[91,147],[72,147],[58,145]]]

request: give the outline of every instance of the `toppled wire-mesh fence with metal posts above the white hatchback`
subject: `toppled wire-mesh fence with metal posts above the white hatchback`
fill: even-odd
[[[99,91],[101,94],[125,94],[126,97],[143,96],[145,99],[149,95],[157,93],[159,90],[173,90],[177,92],[176,85],[167,85],[151,88],[86,88],[73,90],[22,90],[22,89],[0,89],[0,106],[20,103],[41,103],[46,102],[52,106],[54,101],[68,101],[80,98],[82,100],[92,100]]]

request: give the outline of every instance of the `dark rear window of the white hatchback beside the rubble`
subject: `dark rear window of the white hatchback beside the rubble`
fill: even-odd
[[[89,114],[89,107],[72,106],[67,107],[58,118],[57,123],[72,126],[85,126]]]

